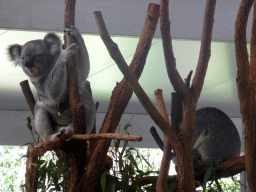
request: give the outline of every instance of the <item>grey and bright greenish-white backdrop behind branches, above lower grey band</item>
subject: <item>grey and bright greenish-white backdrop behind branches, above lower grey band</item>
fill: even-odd
[[[119,45],[129,64],[138,43],[149,3],[160,0],[77,0],[76,26],[83,33],[89,50],[91,82],[95,101],[100,102],[98,112],[106,112],[109,98],[116,82],[122,79],[116,64],[110,58],[97,35],[94,11],[102,11],[109,33]],[[236,60],[234,26],[240,0],[218,0],[213,27],[212,55],[198,107],[215,106],[231,117],[240,117],[236,88]],[[195,70],[202,33],[205,1],[171,0],[170,20],[173,48],[177,68],[183,78]],[[250,40],[251,17],[247,30]],[[19,82],[27,79],[19,68],[7,60],[8,45],[23,44],[31,39],[43,38],[45,31],[62,31],[64,20],[63,0],[1,0],[0,1],[0,109],[22,110],[27,104],[20,91]],[[15,29],[15,30],[11,30]],[[30,31],[23,32],[20,30]],[[40,30],[40,31],[36,31]],[[36,32],[35,32],[36,31]],[[61,33],[59,33],[62,36]],[[186,40],[185,40],[186,39]],[[221,42],[220,42],[221,41]],[[154,90],[160,88],[170,113],[172,85],[167,77],[159,25],[139,81],[154,101]],[[132,97],[125,113],[143,114],[145,110]]]

